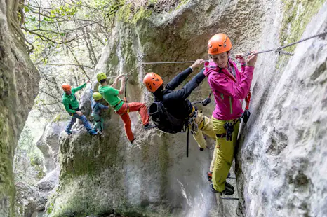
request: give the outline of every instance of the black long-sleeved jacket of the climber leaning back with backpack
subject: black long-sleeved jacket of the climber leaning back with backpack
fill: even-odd
[[[166,85],[165,90],[162,92],[162,99],[155,96],[156,101],[162,100],[163,105],[166,106],[168,112],[175,116],[175,118],[187,118],[192,112],[192,103],[189,102],[187,97],[189,97],[192,91],[200,85],[204,78],[206,78],[203,71],[204,69],[197,73],[196,76],[194,76],[192,80],[189,80],[189,82],[180,90],[175,90],[175,88],[193,72],[191,67],[182,71]]]

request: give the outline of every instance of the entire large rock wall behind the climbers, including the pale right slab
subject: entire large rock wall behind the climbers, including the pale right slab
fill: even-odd
[[[95,73],[116,76],[139,66],[128,78],[127,97],[149,105],[152,96],[141,85],[145,73],[159,73],[166,83],[189,64],[139,65],[139,61],[206,59],[208,38],[217,32],[232,38],[235,52],[276,48],[300,37],[306,20],[317,11],[315,25],[309,24],[305,35],[326,30],[326,3],[298,4],[194,0],[170,12],[152,13],[135,25],[117,22]],[[284,26],[288,32],[281,31]],[[241,130],[235,166],[239,201],[218,198],[218,207],[214,205],[205,175],[211,150],[197,151],[190,139],[186,158],[185,134],[145,132],[136,113],[130,113],[138,139],[132,147],[119,116],[111,111],[104,114],[104,137],[89,136],[81,125],[75,125],[79,130],[72,136],[61,137],[60,184],[48,200],[46,213],[323,216],[326,96],[321,92],[326,93],[326,53],[326,38],[316,38],[298,45],[294,57],[270,52],[258,58],[251,87],[252,116]],[[205,81],[190,99],[203,99],[208,92]],[[85,92],[81,100],[86,113],[89,98]],[[204,113],[211,116],[214,106],[203,108]]]

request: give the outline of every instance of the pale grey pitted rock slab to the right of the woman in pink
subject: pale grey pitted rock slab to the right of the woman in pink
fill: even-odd
[[[303,37],[326,30],[324,3]],[[241,216],[326,216],[326,63],[325,35],[300,43],[285,69],[256,74],[237,156]]]

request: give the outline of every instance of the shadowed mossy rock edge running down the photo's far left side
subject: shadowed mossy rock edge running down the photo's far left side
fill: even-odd
[[[39,74],[27,49],[14,32],[14,1],[0,1],[0,214],[13,216],[15,187],[13,155],[15,146],[32,109],[39,87]],[[8,19],[7,18],[11,18]]]

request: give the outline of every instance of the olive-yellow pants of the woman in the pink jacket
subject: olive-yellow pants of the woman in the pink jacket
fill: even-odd
[[[226,137],[217,137],[217,134],[225,134],[224,128],[226,120],[218,120],[211,117],[213,121],[213,132],[215,132],[215,151],[213,153],[213,159],[215,158],[215,165],[213,167],[213,188],[222,192],[225,189],[225,182],[230,167],[234,159],[234,148],[236,146],[237,135],[239,134],[239,122],[234,125],[234,132],[232,141],[227,141]],[[234,120],[228,120],[233,122]]]

